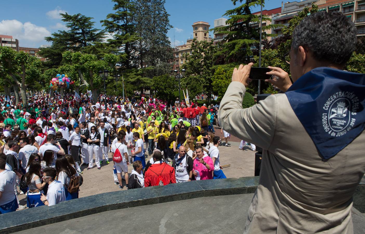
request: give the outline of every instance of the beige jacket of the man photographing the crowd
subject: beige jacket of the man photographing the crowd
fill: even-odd
[[[365,172],[364,131],[324,162],[285,94],[242,109],[245,91],[232,82],[219,108],[224,130],[263,149],[245,233],[353,233],[352,195]]]

